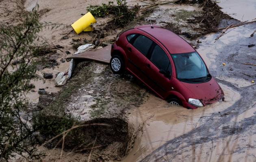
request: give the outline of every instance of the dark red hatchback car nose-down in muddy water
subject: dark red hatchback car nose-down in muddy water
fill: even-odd
[[[197,51],[160,26],[138,26],[119,35],[111,48],[111,70],[127,70],[171,104],[197,109],[224,94]]]

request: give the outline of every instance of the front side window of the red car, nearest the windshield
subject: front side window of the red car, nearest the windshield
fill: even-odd
[[[168,56],[166,55],[165,51],[159,46],[159,45],[156,45],[153,52],[152,52],[152,55],[151,55],[151,58],[150,58],[150,61],[156,65],[156,67],[161,70],[165,70],[167,72],[167,70],[171,73],[171,63],[170,63],[170,60],[168,58]]]

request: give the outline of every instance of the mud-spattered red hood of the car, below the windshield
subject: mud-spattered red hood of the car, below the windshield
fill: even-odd
[[[182,82],[182,84],[193,94],[193,96],[189,98],[199,99],[204,106],[206,106],[206,104],[212,104],[224,96],[223,90],[213,77],[210,81],[205,83]]]

